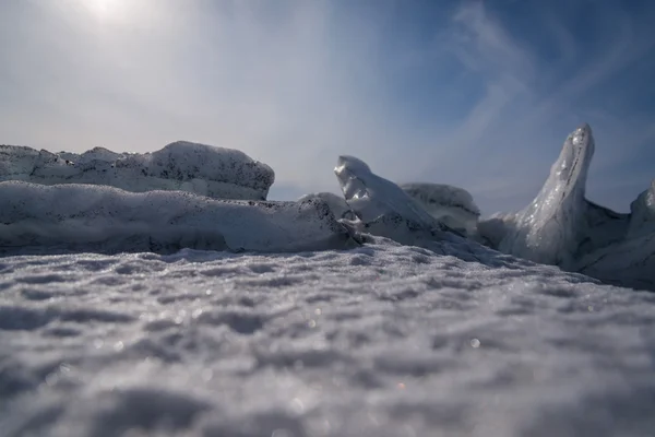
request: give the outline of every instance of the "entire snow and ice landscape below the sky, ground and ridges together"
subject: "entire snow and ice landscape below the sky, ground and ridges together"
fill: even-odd
[[[353,156],[272,202],[238,151],[0,146],[0,434],[652,436],[655,182],[592,203],[593,153],[481,218]]]

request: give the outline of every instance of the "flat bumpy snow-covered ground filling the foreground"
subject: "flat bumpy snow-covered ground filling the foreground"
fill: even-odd
[[[652,436],[655,294],[383,239],[0,258],[3,436]]]

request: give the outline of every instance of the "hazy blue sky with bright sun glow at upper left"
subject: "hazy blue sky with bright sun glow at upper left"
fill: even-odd
[[[338,192],[352,154],[493,213],[586,121],[587,196],[627,211],[655,178],[653,23],[642,0],[5,0],[0,143],[240,149],[273,199]]]

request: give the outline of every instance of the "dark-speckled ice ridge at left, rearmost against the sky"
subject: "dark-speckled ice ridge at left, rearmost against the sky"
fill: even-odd
[[[0,145],[0,181],[93,184],[127,191],[181,190],[221,199],[265,200],[275,175],[245,153],[178,141],[145,154],[96,147],[81,155]]]

